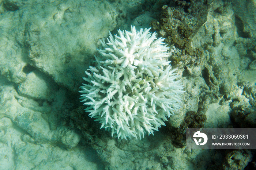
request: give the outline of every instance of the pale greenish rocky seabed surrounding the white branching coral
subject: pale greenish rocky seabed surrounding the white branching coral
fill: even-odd
[[[177,64],[182,111],[154,136],[117,140],[83,111],[79,86],[99,39],[149,28],[163,5],[187,2],[0,0],[0,170],[253,167],[254,150],[188,150],[176,139],[185,115],[199,111],[206,128],[256,127],[255,0],[204,2],[207,20],[190,37],[203,55]]]

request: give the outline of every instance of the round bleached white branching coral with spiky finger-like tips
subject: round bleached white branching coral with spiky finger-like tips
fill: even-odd
[[[153,134],[181,106],[182,82],[167,61],[163,38],[149,29],[118,30],[86,71],[80,91],[89,116],[112,136],[127,139]]]

